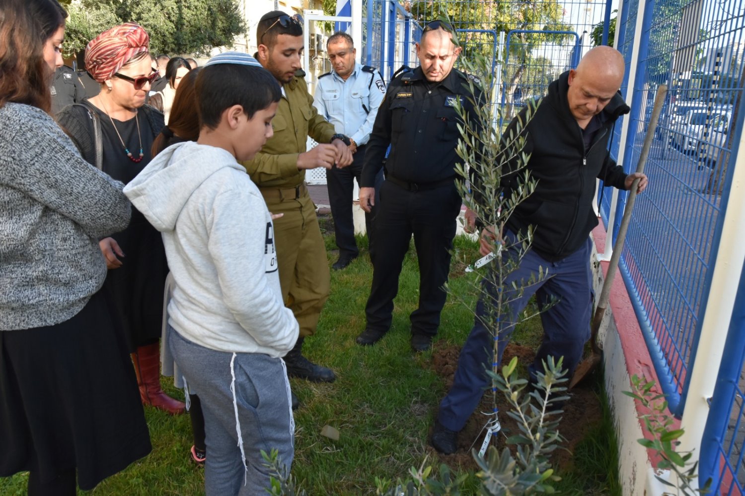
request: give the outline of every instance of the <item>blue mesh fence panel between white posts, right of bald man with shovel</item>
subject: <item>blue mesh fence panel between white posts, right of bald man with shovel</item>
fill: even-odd
[[[619,49],[637,63],[628,86],[633,105],[624,143],[627,170],[641,152],[657,86],[668,83],[671,91],[646,167],[653,187],[635,206],[621,272],[663,391],[679,414],[718,239],[732,103],[741,94],[740,77],[724,75],[722,54],[725,47],[741,47],[738,54],[726,51],[729,67],[741,65],[745,30],[742,17],[724,10],[720,0],[647,1],[638,52],[632,54],[636,3],[624,1],[620,23],[625,36]],[[625,196],[619,200],[617,216]],[[606,218],[609,207],[603,201]]]

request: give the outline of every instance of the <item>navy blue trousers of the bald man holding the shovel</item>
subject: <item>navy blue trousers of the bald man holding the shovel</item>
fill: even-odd
[[[514,239],[511,233],[507,233],[505,238],[508,244]],[[503,257],[515,257],[515,254],[516,250],[512,249],[504,253]],[[500,317],[502,326],[498,339],[498,361],[501,361],[504,348],[510,341],[519,314],[530,297],[536,294],[539,308],[552,298],[557,303],[541,314],[543,341],[536,352],[536,358],[528,367],[530,380],[536,379],[536,372],[543,372],[542,361],[546,361],[548,356],[553,356],[557,361],[563,356],[563,367],[569,371],[567,377],[571,377],[590,337],[593,297],[591,256],[592,241],[589,237],[582,248],[558,262],[548,262],[535,251],[527,251],[519,268],[507,277],[507,284],[504,285],[505,288],[510,288],[510,291],[504,293],[507,300],[518,298],[510,303],[507,312]],[[522,295],[511,289],[513,281],[519,287],[521,281],[527,283],[531,276],[537,276],[539,267],[544,271],[548,269],[550,277],[542,283],[525,288]],[[493,297],[495,289],[487,281],[484,279],[482,285]],[[481,401],[484,391],[491,387],[491,379],[486,374],[486,368],[492,368],[495,338],[482,322],[482,318],[489,313],[486,307],[489,304],[492,304],[489,303],[489,298],[482,294],[476,305],[473,329],[466,339],[466,344],[463,345],[463,350],[460,351],[453,385],[448,395],[440,402],[437,420],[451,431],[460,431],[466,425],[466,421]]]

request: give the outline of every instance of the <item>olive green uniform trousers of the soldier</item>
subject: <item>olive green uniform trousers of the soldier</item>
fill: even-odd
[[[300,336],[314,335],[331,284],[315,205],[305,185],[296,189],[261,188],[261,194],[271,213],[284,214],[274,219],[282,299],[297,318]]]

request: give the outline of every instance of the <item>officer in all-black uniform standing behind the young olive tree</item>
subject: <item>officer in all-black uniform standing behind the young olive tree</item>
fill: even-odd
[[[385,181],[375,219],[373,287],[365,313],[367,326],[358,344],[374,344],[390,328],[393,298],[401,265],[414,236],[419,259],[419,309],[410,316],[411,346],[428,350],[440,325],[446,300],[450,250],[462,201],[455,187],[455,148],[460,139],[457,101],[473,115],[469,91],[474,77],[454,70],[460,48],[452,42],[453,28],[428,23],[416,44],[420,66],[402,68],[390,82],[367,144],[360,184],[360,205],[375,204],[375,174],[390,144]]]

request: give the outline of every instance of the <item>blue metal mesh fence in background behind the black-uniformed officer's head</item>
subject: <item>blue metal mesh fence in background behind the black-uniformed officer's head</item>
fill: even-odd
[[[498,95],[507,122],[529,98],[574,67],[600,39],[606,0],[364,0],[366,19],[362,59],[390,80],[401,65],[416,67],[414,43],[426,22],[447,12],[464,47],[492,59]],[[593,29],[595,28],[595,33]]]

